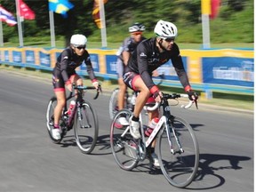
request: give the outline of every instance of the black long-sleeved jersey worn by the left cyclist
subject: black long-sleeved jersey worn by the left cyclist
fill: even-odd
[[[85,63],[87,67],[87,73],[90,78],[95,79],[95,75],[92,69],[92,62],[90,60],[90,55],[87,50],[84,51],[82,56],[76,55],[70,46],[66,48],[63,52],[60,53],[60,56],[57,59],[56,66],[53,68],[53,74],[62,77],[64,82],[68,81],[68,78],[76,74],[76,68],[82,63]]]

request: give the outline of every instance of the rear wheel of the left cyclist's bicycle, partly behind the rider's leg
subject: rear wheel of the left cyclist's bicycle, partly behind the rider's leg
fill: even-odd
[[[56,97],[52,97],[51,100],[49,100],[48,105],[47,105],[47,110],[46,110],[46,127],[47,127],[47,132],[49,133],[50,139],[52,140],[53,143],[60,143],[60,141],[63,138],[63,134],[60,135],[60,140],[55,140],[52,137],[52,129],[53,129],[53,115],[54,115],[54,108],[57,105],[57,99]]]

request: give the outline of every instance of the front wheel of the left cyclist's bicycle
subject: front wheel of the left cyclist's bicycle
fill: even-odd
[[[86,100],[79,109],[80,113],[76,112],[73,125],[76,145],[83,153],[90,154],[98,139],[98,116],[91,103]]]

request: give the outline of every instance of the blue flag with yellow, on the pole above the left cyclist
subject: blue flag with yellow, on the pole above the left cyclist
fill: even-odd
[[[61,14],[64,18],[68,17],[68,10],[72,9],[74,4],[68,0],[49,0],[49,11]]]

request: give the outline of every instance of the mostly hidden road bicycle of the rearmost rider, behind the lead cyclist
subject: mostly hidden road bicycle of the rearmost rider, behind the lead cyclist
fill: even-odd
[[[156,85],[162,84],[165,76],[164,76],[164,74],[161,74],[160,76],[158,76],[158,78],[160,78],[160,81]],[[116,88],[111,93],[111,96],[110,96],[110,99],[108,102],[109,103],[108,104],[108,113],[109,113],[109,117],[111,120],[114,118],[114,116],[116,116],[116,113],[119,111],[118,103],[117,103],[118,92],[119,92],[119,88]],[[132,91],[132,93],[129,93],[126,90],[126,92],[124,94],[124,108],[127,108],[127,109],[133,111],[137,93],[138,92],[134,92],[134,91]]]

